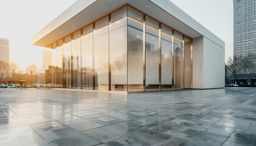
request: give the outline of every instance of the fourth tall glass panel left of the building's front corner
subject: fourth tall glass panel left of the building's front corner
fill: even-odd
[[[76,40],[72,41],[72,55],[71,55],[71,85],[72,88],[80,89],[81,85],[81,74],[80,74],[80,51],[81,51],[81,40],[80,31],[73,34],[73,38]]]

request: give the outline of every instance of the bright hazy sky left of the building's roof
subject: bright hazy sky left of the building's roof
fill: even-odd
[[[0,37],[10,39],[10,61],[25,71],[30,64],[41,67],[42,48],[31,39],[40,29],[68,9],[76,0],[0,0]]]

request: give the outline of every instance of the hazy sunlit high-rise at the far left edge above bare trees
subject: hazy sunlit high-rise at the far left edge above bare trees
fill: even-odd
[[[7,38],[0,38],[0,60],[10,63],[10,44]]]

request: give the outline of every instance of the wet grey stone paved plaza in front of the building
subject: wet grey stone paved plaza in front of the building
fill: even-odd
[[[0,89],[0,145],[256,145],[256,88]]]

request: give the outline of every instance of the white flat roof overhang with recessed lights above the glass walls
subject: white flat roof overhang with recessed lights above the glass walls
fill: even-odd
[[[224,41],[169,0],[78,0],[35,34],[32,44],[46,47],[125,4],[132,5],[190,38],[205,36],[225,48]]]

